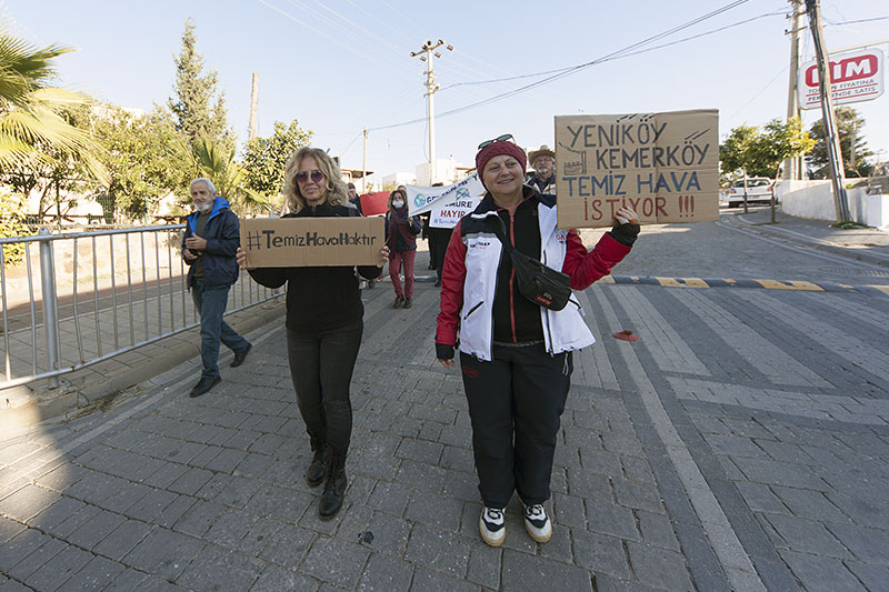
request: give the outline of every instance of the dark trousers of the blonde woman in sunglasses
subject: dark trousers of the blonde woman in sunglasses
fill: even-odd
[[[287,330],[287,358],[309,437],[341,453],[352,435],[349,383],[361,347],[362,321],[330,331]]]

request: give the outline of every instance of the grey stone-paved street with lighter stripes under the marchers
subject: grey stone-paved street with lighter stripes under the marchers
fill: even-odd
[[[889,299],[595,285],[548,544],[478,535],[438,291],[366,290],[347,504],[318,519],[280,327],[191,400],[194,362],[0,454],[0,590],[880,590]],[[841,309],[841,312],[836,312]],[[833,311],[833,314],[826,314]],[[642,341],[611,338],[632,329]]]

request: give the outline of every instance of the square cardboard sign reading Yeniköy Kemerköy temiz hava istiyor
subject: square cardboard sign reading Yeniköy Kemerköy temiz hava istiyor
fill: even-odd
[[[558,116],[556,168],[562,229],[719,220],[719,112]]]

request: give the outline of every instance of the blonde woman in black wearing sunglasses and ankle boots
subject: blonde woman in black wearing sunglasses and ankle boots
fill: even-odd
[[[317,148],[301,148],[284,168],[284,218],[360,215],[349,203],[339,167]],[[247,254],[237,252],[246,269]],[[378,265],[359,265],[368,280],[379,278],[389,249],[380,250]],[[324,482],[318,505],[321,519],[339,512],[346,493],[346,454],[352,432],[349,383],[361,345],[364,314],[352,267],[257,268],[248,270],[258,283],[287,283],[287,357],[299,411],[309,432],[312,461],[306,481]]]

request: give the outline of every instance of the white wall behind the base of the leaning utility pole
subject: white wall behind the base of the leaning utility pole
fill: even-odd
[[[887,208],[881,205],[889,200],[889,195],[875,199],[875,195],[867,194],[865,188],[847,189],[846,194],[852,220],[870,227],[882,225],[881,210],[885,211]],[[778,195],[781,211],[786,214],[810,220],[836,221],[837,219],[830,181],[781,181],[778,185]]]

